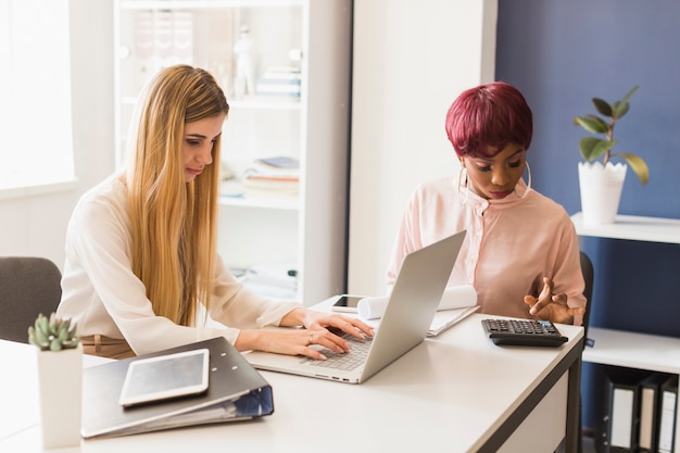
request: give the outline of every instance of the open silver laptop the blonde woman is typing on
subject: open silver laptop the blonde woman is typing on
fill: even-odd
[[[347,354],[337,354],[323,349],[328,360],[315,361],[300,355],[252,351],[244,355],[245,358],[257,369],[338,382],[364,382],[425,339],[463,246],[465,234],[466,230],[463,230],[405,257],[373,339],[362,341],[347,334],[344,339],[351,347]],[[330,366],[336,358],[342,361],[355,358],[361,355],[362,349],[366,353],[363,362],[345,366],[347,369]]]

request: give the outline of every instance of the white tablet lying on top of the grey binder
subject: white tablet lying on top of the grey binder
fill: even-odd
[[[130,362],[123,406],[198,394],[207,390],[210,351],[199,349]]]

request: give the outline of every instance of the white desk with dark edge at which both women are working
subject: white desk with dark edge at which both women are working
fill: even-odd
[[[583,329],[561,325],[569,342],[558,349],[500,348],[482,317],[424,341],[362,385],[263,373],[275,412],[259,420],[93,439],[60,452],[545,453],[565,435],[566,451],[577,451]],[[30,426],[0,437],[1,452],[41,451],[30,348],[0,341],[14,387],[2,386],[2,420],[33,415]]]

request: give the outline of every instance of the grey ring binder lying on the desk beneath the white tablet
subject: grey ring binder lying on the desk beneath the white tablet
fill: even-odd
[[[119,404],[123,381],[131,362],[203,348],[210,350],[206,392],[136,407]],[[85,439],[252,419],[274,412],[269,383],[223,337],[88,367],[83,373],[81,436]]]

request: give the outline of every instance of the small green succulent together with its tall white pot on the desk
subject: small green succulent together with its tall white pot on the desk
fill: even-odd
[[[28,327],[37,348],[40,429],[46,449],[80,444],[83,345],[76,324],[39,314]]]

